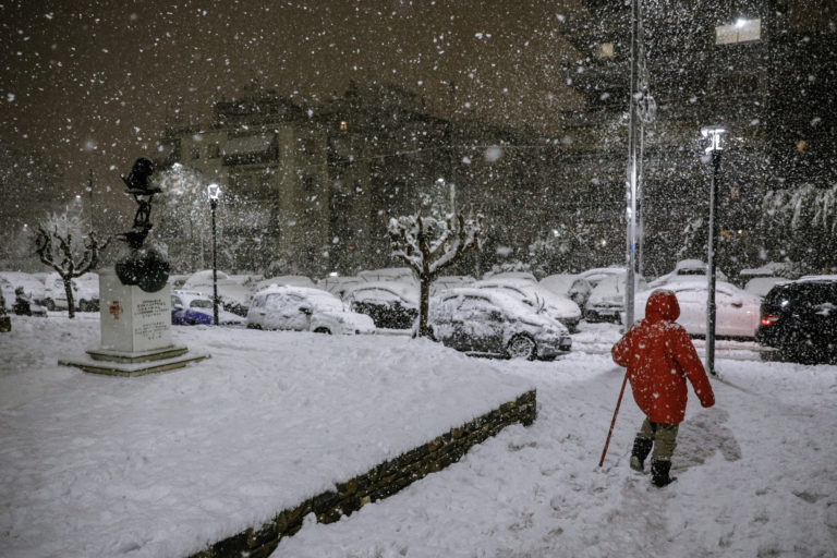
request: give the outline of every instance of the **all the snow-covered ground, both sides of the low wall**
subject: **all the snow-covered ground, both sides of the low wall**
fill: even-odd
[[[837,556],[837,366],[762,363],[752,343],[720,343],[717,404],[702,409],[690,396],[674,458],[679,480],[657,489],[628,466],[642,421],[630,388],[596,466],[623,377],[607,354],[616,326],[584,327],[572,354],[531,363],[466,359],[401,336],[175,328],[180,341],[211,352],[211,364],[130,379],[54,365],[95,344],[93,319],[13,326],[0,337],[2,556],[185,554],[293,499],[278,478],[286,489],[308,475],[325,486],[328,466],[348,477],[362,459],[383,461],[430,436],[407,421],[380,424],[390,404],[403,412],[429,396],[439,405],[425,414],[442,415],[435,426],[456,422],[438,413],[453,398],[438,387],[451,381],[456,397],[474,393],[469,403],[534,385],[538,418],[337,523],[310,518],[274,556]],[[279,361],[287,374],[265,372]],[[324,373],[351,398],[349,411],[312,411],[332,402]],[[300,418],[275,424],[280,405]],[[317,439],[288,439],[312,427],[304,418],[322,421]],[[365,439],[340,439],[347,420],[365,425]],[[380,439],[397,441],[384,448]],[[308,459],[274,454],[291,445]]]

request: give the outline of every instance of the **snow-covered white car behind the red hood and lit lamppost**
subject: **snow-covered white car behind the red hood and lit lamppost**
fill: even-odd
[[[690,336],[706,335],[706,301],[708,286],[704,281],[686,280],[668,283],[663,289],[674,291],[680,305],[677,323]],[[655,289],[636,294],[635,319],[645,317],[645,304]],[[759,326],[761,299],[726,281],[715,282],[715,336],[733,339],[753,339]]]

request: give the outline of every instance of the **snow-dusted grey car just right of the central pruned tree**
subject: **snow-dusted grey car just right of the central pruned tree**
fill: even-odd
[[[428,328],[432,339],[470,354],[548,360],[572,348],[560,322],[492,289],[445,291],[430,304]]]

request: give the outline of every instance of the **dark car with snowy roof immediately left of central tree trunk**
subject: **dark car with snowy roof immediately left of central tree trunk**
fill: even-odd
[[[360,283],[347,293],[345,302],[384,329],[410,329],[418,317],[418,287],[411,282]]]

